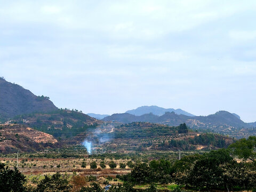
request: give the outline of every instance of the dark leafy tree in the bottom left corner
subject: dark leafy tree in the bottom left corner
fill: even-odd
[[[0,163],[0,190],[1,191],[25,191],[26,177],[19,172],[17,167],[10,170],[4,163]]]

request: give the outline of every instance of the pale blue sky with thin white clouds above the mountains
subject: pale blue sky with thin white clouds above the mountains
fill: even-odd
[[[2,1],[0,76],[55,106],[256,121],[256,1]]]

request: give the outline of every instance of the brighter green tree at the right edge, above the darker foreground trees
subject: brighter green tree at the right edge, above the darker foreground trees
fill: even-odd
[[[256,159],[256,137],[251,136],[248,139],[240,139],[229,146],[234,155],[244,160],[250,159],[255,162]]]

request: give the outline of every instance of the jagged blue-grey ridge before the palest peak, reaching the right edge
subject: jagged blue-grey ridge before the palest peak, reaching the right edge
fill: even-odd
[[[228,134],[236,138],[249,137],[249,135],[256,134],[254,129],[251,128],[255,127],[256,123],[245,123],[238,115],[231,114],[228,111],[218,111],[213,115],[192,117],[187,115],[177,115],[174,112],[166,112],[162,116],[157,116],[152,113],[140,116],[123,113],[105,117],[102,121],[117,121],[121,123],[149,122],[172,126],[186,123],[192,129]]]

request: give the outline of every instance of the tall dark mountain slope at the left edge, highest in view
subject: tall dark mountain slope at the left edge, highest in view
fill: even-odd
[[[0,120],[16,115],[57,110],[49,98],[38,97],[22,86],[0,78]]]

